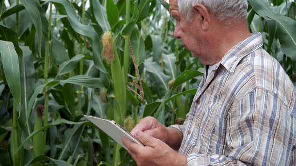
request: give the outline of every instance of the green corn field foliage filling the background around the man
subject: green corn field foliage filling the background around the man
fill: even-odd
[[[296,3],[248,0],[248,25],[296,82]],[[83,115],[181,124],[203,65],[164,0],[0,0],[0,165],[136,165]]]

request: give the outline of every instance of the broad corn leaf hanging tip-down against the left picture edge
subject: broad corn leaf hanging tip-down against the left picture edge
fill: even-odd
[[[21,106],[21,78],[17,52],[12,42],[0,40],[0,54],[5,77],[10,91],[18,105]]]

